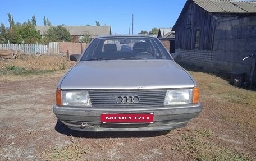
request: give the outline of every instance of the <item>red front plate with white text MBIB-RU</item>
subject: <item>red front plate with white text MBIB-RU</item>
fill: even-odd
[[[103,123],[153,123],[153,113],[136,114],[109,114],[103,113],[100,117]]]

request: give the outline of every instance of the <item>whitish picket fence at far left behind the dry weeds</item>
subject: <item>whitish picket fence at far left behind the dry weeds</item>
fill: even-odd
[[[0,44],[0,50],[17,50],[26,54],[60,54],[58,42],[41,44]]]

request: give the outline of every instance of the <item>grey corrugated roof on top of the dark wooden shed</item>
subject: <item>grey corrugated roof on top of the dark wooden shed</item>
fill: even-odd
[[[193,0],[207,12],[256,13],[256,2],[228,0]]]

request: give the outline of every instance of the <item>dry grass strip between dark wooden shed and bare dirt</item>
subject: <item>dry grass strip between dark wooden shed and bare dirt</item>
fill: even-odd
[[[223,121],[256,128],[255,91],[236,88],[226,80],[203,72],[190,72],[199,84],[204,108],[212,108]]]

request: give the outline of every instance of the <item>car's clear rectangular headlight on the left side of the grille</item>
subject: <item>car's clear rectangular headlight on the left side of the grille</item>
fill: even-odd
[[[62,91],[63,105],[90,106],[87,91]]]

